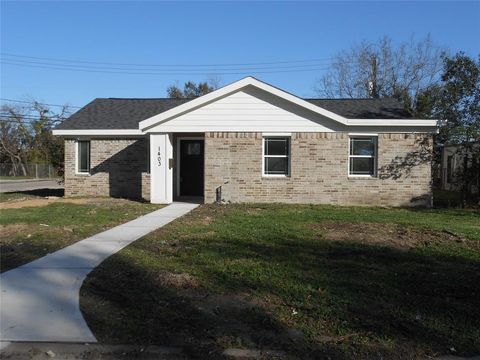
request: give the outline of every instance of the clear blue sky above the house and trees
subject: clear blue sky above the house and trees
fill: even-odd
[[[198,64],[326,59],[318,62],[316,71],[241,70],[241,74],[221,75],[223,84],[251,74],[299,96],[311,97],[315,96],[315,79],[337,51],[383,35],[400,42],[428,33],[435,43],[452,52],[462,50],[478,56],[480,2],[2,1],[2,53],[102,63],[181,64],[189,65],[182,69],[201,71],[194,75],[113,74],[4,63],[0,90],[2,98],[84,105],[95,97],[164,97],[166,88],[175,81],[205,80],[212,71],[194,66]],[[2,59],[5,61],[5,55]],[[28,65],[46,61],[23,60],[31,61],[23,63]],[[109,71],[117,67],[84,66]]]

